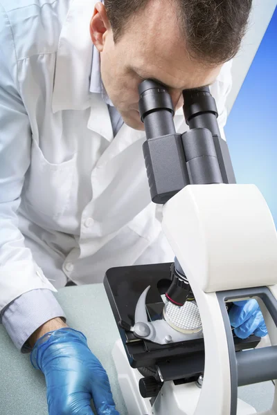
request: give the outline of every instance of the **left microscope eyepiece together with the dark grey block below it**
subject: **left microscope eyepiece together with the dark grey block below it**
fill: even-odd
[[[181,134],[175,131],[170,94],[161,85],[145,80],[139,85],[139,111],[145,124],[143,156],[151,199],[163,205],[190,183]]]

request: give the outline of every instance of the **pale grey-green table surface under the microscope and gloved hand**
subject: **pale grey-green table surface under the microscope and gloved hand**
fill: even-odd
[[[67,287],[56,296],[68,324],[87,336],[91,351],[107,370],[118,412],[127,415],[111,358],[119,334],[104,287],[102,284]],[[43,374],[30,365],[29,355],[15,349],[1,324],[0,348],[0,415],[48,415]],[[257,411],[271,407],[273,394],[271,382],[239,388],[239,397]]]

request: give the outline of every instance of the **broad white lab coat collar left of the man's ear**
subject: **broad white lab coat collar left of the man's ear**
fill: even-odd
[[[96,0],[73,0],[60,34],[52,109],[87,109],[91,104],[92,42],[89,22]]]

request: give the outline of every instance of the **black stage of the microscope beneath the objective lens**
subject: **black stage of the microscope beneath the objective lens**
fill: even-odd
[[[116,322],[134,325],[134,312],[141,293],[151,286],[147,297],[148,311],[152,306],[160,306],[163,311],[161,295],[168,290],[170,264],[152,264],[111,268],[107,271],[104,286]],[[157,312],[158,314],[158,312]],[[157,315],[159,318],[159,315]],[[149,340],[138,339],[131,331],[118,324],[118,330],[131,367],[159,366],[163,379],[187,378],[204,371],[204,339],[189,340],[172,344],[155,344]],[[242,340],[234,337],[235,350],[253,349],[260,338],[251,335]]]

